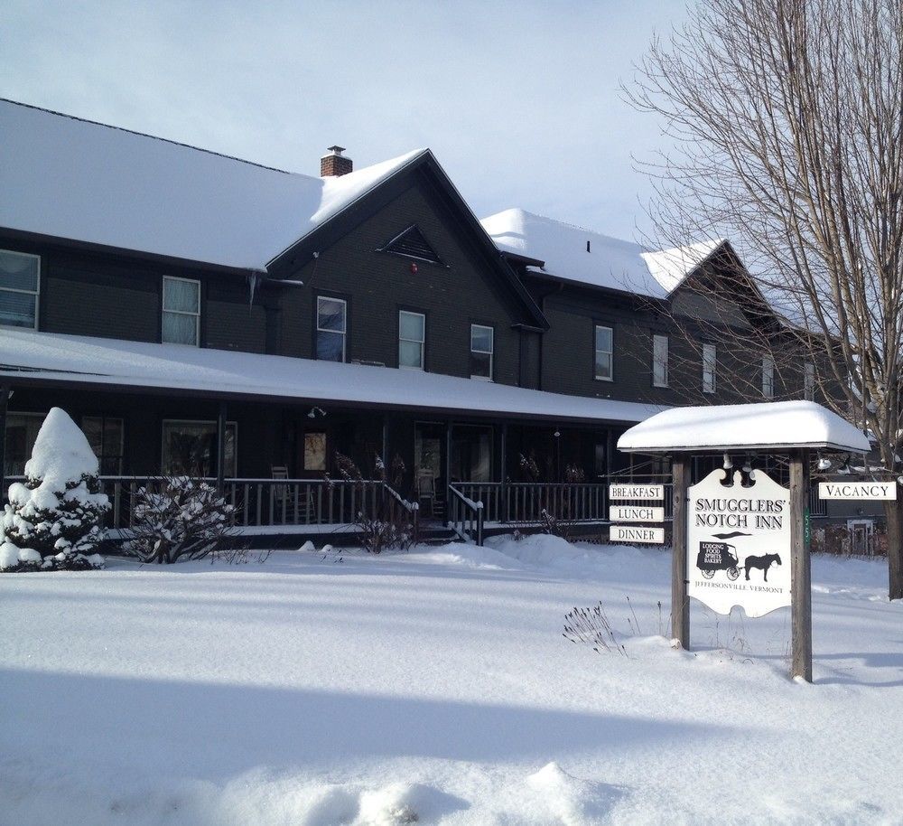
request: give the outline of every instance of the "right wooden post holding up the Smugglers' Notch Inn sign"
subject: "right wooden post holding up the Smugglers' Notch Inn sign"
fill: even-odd
[[[791,677],[812,682],[812,568],[809,557],[809,451],[790,454]]]

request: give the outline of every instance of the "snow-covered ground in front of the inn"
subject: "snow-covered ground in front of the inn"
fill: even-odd
[[[0,822],[903,822],[884,565],[815,559],[815,685],[788,609],[694,605],[671,649],[669,565],[536,537],[5,575]],[[627,657],[563,638],[599,600]]]

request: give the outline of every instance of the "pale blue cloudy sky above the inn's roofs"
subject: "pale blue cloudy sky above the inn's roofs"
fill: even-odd
[[[0,96],[319,174],[430,146],[473,210],[647,227],[619,94],[683,0],[51,3],[0,9]]]

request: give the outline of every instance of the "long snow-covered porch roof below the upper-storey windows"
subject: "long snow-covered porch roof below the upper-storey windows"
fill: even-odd
[[[638,422],[661,407],[362,364],[6,330],[0,377],[519,418]]]

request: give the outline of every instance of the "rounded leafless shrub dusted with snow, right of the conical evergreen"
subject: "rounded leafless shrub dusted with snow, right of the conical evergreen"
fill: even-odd
[[[139,487],[126,553],[161,565],[200,559],[237,534],[235,508],[217,489],[188,476],[163,476]]]

